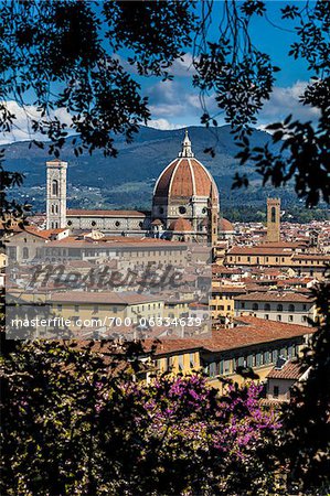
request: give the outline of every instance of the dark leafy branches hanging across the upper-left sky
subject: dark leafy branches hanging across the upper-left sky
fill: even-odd
[[[160,3],[161,8],[160,8]],[[26,110],[33,133],[52,141],[58,157],[68,129],[81,137],[78,155],[96,148],[116,155],[113,134],[131,141],[150,114],[138,82],[117,55],[143,75],[168,77],[168,66],[190,42],[194,17],[189,2],[20,1],[0,8],[0,131],[15,125],[7,101]],[[26,101],[34,98],[35,117]],[[62,112],[56,112],[62,109]],[[33,143],[43,147],[41,140]]]

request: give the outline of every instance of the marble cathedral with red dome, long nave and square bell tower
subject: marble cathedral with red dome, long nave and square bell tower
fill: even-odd
[[[67,163],[46,162],[46,228],[99,230],[107,235],[157,237],[216,245],[219,192],[210,172],[195,159],[185,131],[178,157],[156,182],[151,212],[66,209]],[[232,228],[232,227],[231,227]]]

